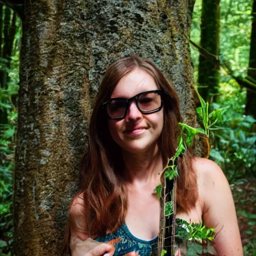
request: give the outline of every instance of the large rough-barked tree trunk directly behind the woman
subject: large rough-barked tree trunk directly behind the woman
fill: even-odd
[[[189,2],[192,2],[191,0]],[[26,1],[18,97],[14,255],[59,255],[106,67],[132,52],[172,80],[195,125],[187,0]]]

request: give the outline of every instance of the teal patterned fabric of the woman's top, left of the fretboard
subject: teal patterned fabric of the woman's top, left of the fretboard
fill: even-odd
[[[97,237],[99,242],[108,242],[112,239],[119,238],[115,246],[113,256],[122,256],[128,252],[136,251],[139,256],[149,256],[152,251],[156,251],[157,248],[157,236],[153,239],[146,241],[135,237],[123,223],[114,233],[107,234],[105,236]]]

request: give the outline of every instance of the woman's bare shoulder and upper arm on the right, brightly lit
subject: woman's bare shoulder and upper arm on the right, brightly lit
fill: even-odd
[[[206,158],[196,158],[198,187],[203,199],[203,223],[214,227],[214,247],[218,256],[242,256],[242,244],[234,201],[227,179],[220,167]]]

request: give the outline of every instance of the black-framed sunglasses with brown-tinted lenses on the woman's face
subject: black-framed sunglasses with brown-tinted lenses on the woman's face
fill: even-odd
[[[161,90],[148,90],[140,92],[131,98],[110,98],[101,106],[105,108],[108,118],[124,118],[130,102],[135,100],[138,110],[142,114],[150,114],[162,108]]]

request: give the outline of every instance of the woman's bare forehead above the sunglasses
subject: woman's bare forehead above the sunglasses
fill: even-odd
[[[145,70],[136,68],[120,79],[111,94],[111,98],[130,98],[140,92],[155,89],[158,87],[154,78]]]

